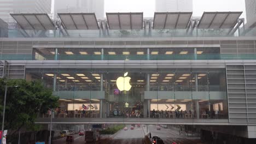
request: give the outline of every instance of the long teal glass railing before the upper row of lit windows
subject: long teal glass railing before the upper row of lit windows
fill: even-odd
[[[204,54],[204,55],[24,55],[2,54],[0,60],[213,60],[256,59],[256,54]]]

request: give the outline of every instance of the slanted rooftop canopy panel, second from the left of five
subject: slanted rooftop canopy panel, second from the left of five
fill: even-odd
[[[59,13],[66,29],[100,29],[94,13]]]

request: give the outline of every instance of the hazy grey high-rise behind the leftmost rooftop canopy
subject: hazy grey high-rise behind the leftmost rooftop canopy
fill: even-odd
[[[0,19],[14,20],[9,13],[51,13],[51,0],[0,0]]]

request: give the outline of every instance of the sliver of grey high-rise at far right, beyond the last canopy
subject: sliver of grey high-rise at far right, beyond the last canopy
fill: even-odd
[[[245,0],[246,4],[246,19],[250,22],[256,19],[256,0]]]

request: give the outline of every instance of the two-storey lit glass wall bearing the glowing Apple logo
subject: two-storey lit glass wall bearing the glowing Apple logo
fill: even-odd
[[[225,69],[26,69],[34,79],[60,97],[54,118],[228,118]]]

